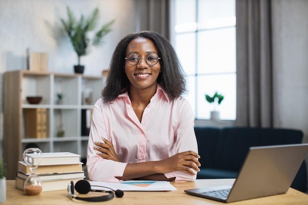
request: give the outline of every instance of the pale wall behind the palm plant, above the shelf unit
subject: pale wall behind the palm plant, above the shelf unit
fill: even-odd
[[[135,0],[0,0],[0,157],[2,157],[2,75],[26,69],[26,50],[48,52],[48,71],[73,73],[77,56],[60,19],[68,5],[79,19],[99,8],[99,25],[116,19],[105,44],[81,58],[85,75],[101,75],[119,40],[136,30]],[[97,27],[98,29],[98,27]]]

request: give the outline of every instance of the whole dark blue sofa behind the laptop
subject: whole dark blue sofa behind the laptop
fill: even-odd
[[[251,146],[301,144],[301,130],[247,127],[194,127],[198,142],[200,172],[197,178],[236,178]],[[292,188],[307,192],[304,160]]]

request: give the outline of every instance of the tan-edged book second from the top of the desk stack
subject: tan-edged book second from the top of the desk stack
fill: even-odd
[[[82,172],[82,162],[76,164],[63,164],[63,165],[46,165],[38,166],[35,170],[35,174],[55,174],[55,173],[70,173],[70,172]],[[18,171],[26,175],[31,171],[24,161],[18,162]]]

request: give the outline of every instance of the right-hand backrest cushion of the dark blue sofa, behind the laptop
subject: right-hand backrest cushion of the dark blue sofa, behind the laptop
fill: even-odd
[[[220,129],[211,167],[239,171],[251,146],[302,143],[300,130],[232,127]],[[214,145],[213,145],[214,146]]]

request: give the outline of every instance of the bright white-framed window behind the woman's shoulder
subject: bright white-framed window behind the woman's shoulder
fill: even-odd
[[[213,103],[205,94],[224,95],[220,119],[236,118],[235,0],[174,0],[171,40],[187,74],[196,119],[209,119]],[[172,33],[172,32],[171,32]]]

